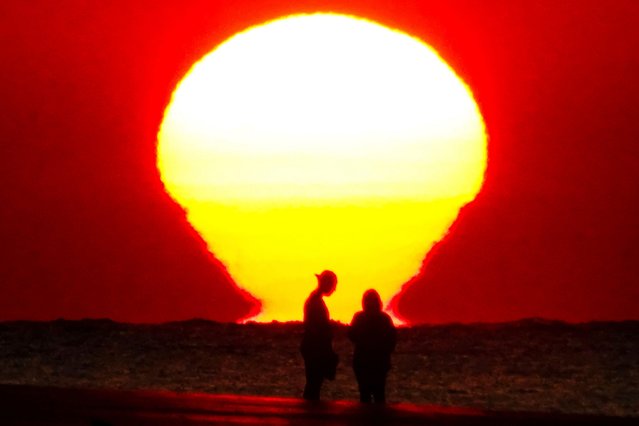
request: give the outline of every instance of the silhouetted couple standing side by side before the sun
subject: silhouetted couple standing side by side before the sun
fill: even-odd
[[[333,351],[333,327],[324,296],[330,296],[337,286],[337,276],[324,271],[317,277],[317,289],[304,304],[304,337],[301,352],[306,370],[304,399],[319,400],[324,379],[333,380],[339,358]],[[382,311],[382,301],[375,290],[368,290],[362,299],[363,311],[357,312],[348,329],[353,342],[353,370],[359,386],[360,401],[386,401],[386,375],[390,356],[395,349],[396,330],[388,314]]]

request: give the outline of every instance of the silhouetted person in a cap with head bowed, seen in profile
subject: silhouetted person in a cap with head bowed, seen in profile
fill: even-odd
[[[333,380],[337,368],[337,354],[333,352],[333,326],[324,296],[330,296],[337,286],[337,276],[324,271],[317,277],[315,289],[304,304],[304,337],[301,352],[306,370],[304,399],[319,400],[324,379]]]

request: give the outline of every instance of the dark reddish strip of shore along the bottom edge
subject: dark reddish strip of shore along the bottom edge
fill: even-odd
[[[639,425],[639,418],[0,385],[0,425]]]

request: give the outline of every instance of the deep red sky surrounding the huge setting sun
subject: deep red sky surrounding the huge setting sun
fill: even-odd
[[[249,25],[313,11],[422,38],[486,120],[484,189],[395,299],[400,316],[639,319],[639,2],[9,0],[0,320],[256,309],[163,191],[155,135],[194,61]]]

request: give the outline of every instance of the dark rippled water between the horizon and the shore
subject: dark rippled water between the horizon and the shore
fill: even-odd
[[[0,383],[297,397],[301,331],[202,320],[0,323]],[[357,399],[345,332],[326,399]],[[403,328],[393,363],[390,402],[639,416],[639,322]]]

